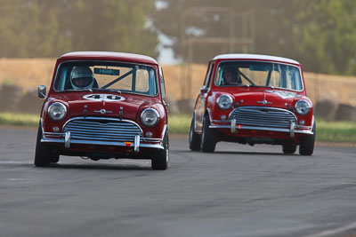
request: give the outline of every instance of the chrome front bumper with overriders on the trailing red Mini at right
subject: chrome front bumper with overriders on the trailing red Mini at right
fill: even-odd
[[[216,124],[214,122],[226,122],[227,124]],[[257,126],[249,126],[249,125],[241,125],[236,124],[236,119],[232,120],[220,120],[220,121],[213,121],[212,124],[209,126],[211,129],[229,129],[231,130],[232,134],[236,133],[236,130],[265,130],[265,131],[279,131],[279,132],[286,132],[289,134],[290,138],[295,137],[295,133],[298,134],[308,134],[312,135],[314,132],[312,131],[312,127],[310,126],[301,126],[296,125],[295,122],[291,122],[289,129],[283,128],[272,128],[272,127],[257,127]]]

